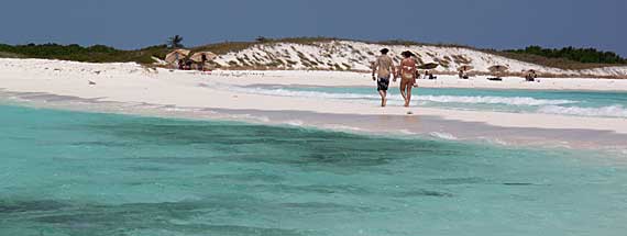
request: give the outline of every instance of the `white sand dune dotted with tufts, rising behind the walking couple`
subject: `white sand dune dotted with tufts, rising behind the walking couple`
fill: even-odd
[[[397,61],[404,50],[414,52],[422,63],[438,63],[441,72],[454,74],[460,66],[470,65],[475,72],[490,72],[494,65],[509,68],[509,72],[535,69],[540,74],[565,77],[625,77],[627,67],[615,66],[585,70],[566,70],[519,61],[481,50],[429,45],[381,45],[353,41],[312,42],[309,44],[272,43],[253,45],[238,52],[220,55],[216,61],[224,67],[270,67],[297,70],[367,70],[374,56],[383,47],[391,49]]]

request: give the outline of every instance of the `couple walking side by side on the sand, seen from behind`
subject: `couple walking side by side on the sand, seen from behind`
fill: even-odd
[[[381,94],[381,106],[385,106],[387,103],[389,78],[394,77],[393,81],[396,82],[396,79],[400,77],[400,94],[405,100],[405,106],[408,108],[411,101],[411,88],[416,83],[416,60],[411,58],[411,52],[403,52],[403,60],[400,60],[397,71],[394,61],[387,56],[387,53],[389,53],[389,49],[381,49],[381,56],[376,58],[372,67],[372,80],[376,80],[376,90]]]

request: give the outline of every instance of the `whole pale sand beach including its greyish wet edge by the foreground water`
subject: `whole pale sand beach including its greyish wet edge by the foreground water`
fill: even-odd
[[[520,78],[519,80],[524,79]],[[550,82],[546,82],[547,80]],[[503,82],[495,83],[481,80],[460,81],[457,78],[442,77],[438,80],[419,80],[419,86],[455,88],[453,86],[462,85],[466,86],[464,89],[494,89],[494,86],[502,89],[520,89],[520,85],[528,86],[528,83],[517,83],[515,79],[506,79]],[[510,143],[561,145],[560,139],[565,139],[574,142],[571,145],[582,147],[615,146],[622,144],[617,143],[615,138],[627,139],[627,119],[623,117],[464,111],[422,106],[409,109],[388,106],[382,109],[376,102],[363,104],[330,99],[243,93],[224,89],[224,86],[301,85],[311,87],[372,87],[374,91],[373,83],[370,75],[355,72],[213,71],[208,75],[199,71],[150,70],[135,64],[0,59],[0,94],[12,93],[18,98],[23,97],[25,101],[43,102],[41,104],[44,108],[57,105],[53,103],[63,104],[64,102],[79,101],[87,105],[114,103],[119,104],[119,108],[128,109],[127,112],[138,113],[140,111],[136,110],[150,110],[148,106],[152,105],[155,111],[147,111],[148,114],[162,112],[155,108],[173,110],[168,112],[179,113],[177,115],[185,114],[189,111],[183,110],[190,109],[190,111],[217,111],[221,112],[220,115],[223,117],[235,120],[238,117],[233,115],[245,116],[246,114],[268,116],[271,121],[275,119],[278,123],[288,123],[290,120],[295,120],[300,121],[302,125],[322,128],[326,128],[326,124],[340,123],[339,125],[345,127],[356,126],[376,133],[382,130],[371,127],[387,124],[396,133],[408,135],[438,133],[444,134],[441,135],[444,138],[452,136],[458,139],[476,139],[481,138],[482,135],[492,138],[507,134],[509,136],[505,139],[510,139]],[[612,88],[627,91],[627,80],[542,79],[542,82],[531,85],[536,86],[532,87],[536,90],[584,88],[607,92],[607,89]],[[391,85],[391,87],[395,88],[396,83]],[[45,104],[46,99],[51,100],[47,104]],[[140,108],[141,104],[145,104],[146,108]],[[407,115],[408,111],[414,114]],[[187,117],[189,116],[187,115]],[[201,114],[199,117],[205,116],[216,117],[217,115]],[[381,119],[396,121],[397,124],[381,122]],[[419,120],[419,122],[407,120]],[[361,123],[358,124],[359,122],[355,121]],[[425,127],[425,125],[432,125],[432,127]],[[447,126],[454,128],[440,128]],[[484,132],[482,128],[485,130],[485,134],[482,133]],[[551,133],[563,134],[560,137],[560,135],[552,135]],[[575,137],[582,134],[585,136],[584,139]],[[557,142],[551,141],[551,138],[557,139]]]

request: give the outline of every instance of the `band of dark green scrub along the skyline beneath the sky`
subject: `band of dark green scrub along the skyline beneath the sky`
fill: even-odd
[[[26,45],[7,45],[0,44],[0,57],[4,58],[44,58],[44,59],[65,59],[89,63],[127,63],[134,61],[139,64],[152,64],[153,57],[164,58],[173,47],[182,47],[183,37],[176,35],[168,38],[167,44],[150,46],[141,49],[124,50],[117,49],[105,45],[80,46],[76,44],[26,44]],[[350,41],[333,37],[289,37],[289,38],[268,38],[260,36],[253,42],[222,42],[208,44],[197,47],[190,47],[193,52],[210,50],[218,55],[240,52],[257,45],[270,45],[277,43],[294,43],[300,45],[318,45],[319,43],[328,43],[332,41]],[[425,44],[411,41],[393,40],[384,42],[365,42],[353,41],[366,44],[380,45],[400,45],[400,46],[438,46],[438,47],[458,47],[475,49],[510,59],[525,63],[531,63],[546,67],[560,69],[592,69],[600,67],[627,65],[627,59],[619,57],[615,53],[601,52],[594,48],[573,48],[564,47],[562,49],[541,48],[539,46],[530,46],[525,49],[513,50],[494,50],[494,49],[476,49],[470,46],[455,44]],[[375,56],[372,52],[366,52],[367,56]],[[276,61],[277,65],[288,61]],[[316,61],[306,61],[309,65]],[[233,67],[234,68],[234,67]],[[337,69],[340,69],[339,67]]]

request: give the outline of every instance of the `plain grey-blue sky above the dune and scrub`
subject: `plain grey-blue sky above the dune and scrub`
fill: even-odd
[[[596,47],[627,56],[625,0],[8,0],[0,43],[140,48],[256,36],[410,40],[482,48]]]

